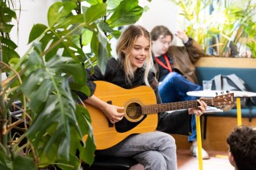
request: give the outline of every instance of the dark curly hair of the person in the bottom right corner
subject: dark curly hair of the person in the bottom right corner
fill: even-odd
[[[238,170],[256,169],[256,130],[245,126],[235,128],[227,143]]]

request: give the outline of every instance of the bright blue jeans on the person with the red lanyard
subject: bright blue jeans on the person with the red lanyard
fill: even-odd
[[[200,85],[190,82],[177,72],[170,72],[158,86],[160,98],[163,103],[196,100],[196,97],[186,95],[186,92],[202,89]],[[196,116],[194,114],[192,115],[191,125],[192,134],[188,137],[189,142],[196,140]]]

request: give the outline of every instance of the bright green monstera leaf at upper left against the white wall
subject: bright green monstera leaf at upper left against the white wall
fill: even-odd
[[[73,43],[72,34],[68,29],[75,23],[83,23],[82,14],[70,15],[75,8],[74,2],[56,2],[48,11],[49,27],[35,24],[32,28],[28,43],[38,38],[42,43],[42,50],[47,50],[46,60],[50,60],[56,53],[60,53],[61,56],[71,56],[73,59],[83,59],[83,50]],[[49,49],[46,49],[47,47]]]

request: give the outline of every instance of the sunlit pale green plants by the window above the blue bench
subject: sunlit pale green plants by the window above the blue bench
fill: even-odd
[[[246,47],[255,53],[256,5],[241,1],[172,0],[185,18],[186,33],[216,56],[243,56]],[[211,14],[210,14],[210,11]],[[212,48],[213,47],[213,48]],[[209,52],[209,48],[213,51]],[[256,57],[256,56],[254,56]]]

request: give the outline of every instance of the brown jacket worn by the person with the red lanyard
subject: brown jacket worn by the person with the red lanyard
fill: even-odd
[[[195,40],[189,38],[184,47],[171,46],[167,51],[167,56],[171,57],[172,67],[177,69],[177,72],[184,75],[186,79],[195,84],[198,84],[196,78],[196,68],[194,64],[200,57],[206,56],[202,47]],[[159,65],[154,59],[154,72],[159,79]]]

